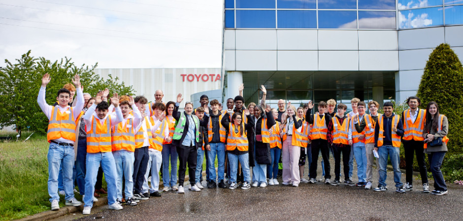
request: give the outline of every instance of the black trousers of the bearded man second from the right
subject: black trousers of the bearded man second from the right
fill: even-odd
[[[425,163],[425,154],[423,153],[424,143],[416,140],[404,140],[403,149],[405,150],[405,180],[406,182],[413,184],[413,158],[416,153],[416,161],[420,167],[421,181],[428,183],[428,169]]]

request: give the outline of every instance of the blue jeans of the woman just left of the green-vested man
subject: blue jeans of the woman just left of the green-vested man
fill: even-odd
[[[177,160],[178,160],[178,154],[177,154],[177,148],[169,143],[169,144],[163,144],[163,184],[164,186],[168,186],[170,183],[170,186],[173,187],[175,184],[177,184]],[[169,179],[169,158],[170,158],[170,179]]]

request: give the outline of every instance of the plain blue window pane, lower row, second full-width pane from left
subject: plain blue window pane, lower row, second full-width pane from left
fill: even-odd
[[[278,10],[278,28],[317,28],[317,12]]]

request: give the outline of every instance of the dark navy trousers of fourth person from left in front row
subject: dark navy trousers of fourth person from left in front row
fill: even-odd
[[[150,155],[148,153],[148,146],[136,148],[135,161],[133,162],[133,193],[140,193],[142,191],[143,181],[145,179],[146,169],[148,167],[148,161]]]

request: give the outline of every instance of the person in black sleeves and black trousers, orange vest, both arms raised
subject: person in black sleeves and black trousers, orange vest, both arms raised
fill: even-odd
[[[312,163],[309,167],[310,180],[309,183],[315,183],[317,180],[317,163],[318,163],[318,154],[321,150],[323,162],[325,164],[325,184],[331,184],[331,175],[330,175],[330,160],[329,153],[330,148],[328,147],[328,125],[331,122],[331,115],[325,113],[327,108],[327,103],[321,101],[318,103],[318,113],[311,114],[313,109],[312,101],[308,103],[308,109],[305,113],[305,120],[312,125],[310,130],[310,138],[312,139]]]

